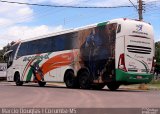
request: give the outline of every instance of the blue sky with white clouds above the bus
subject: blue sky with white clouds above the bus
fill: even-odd
[[[1,0],[0,0],[1,1]],[[112,7],[132,5],[129,0],[6,0],[65,6]],[[137,0],[131,0],[137,5]],[[143,0],[145,22],[152,24],[160,41],[160,0]],[[29,39],[115,18],[138,19],[136,8],[54,8],[0,2],[0,49],[12,41]]]

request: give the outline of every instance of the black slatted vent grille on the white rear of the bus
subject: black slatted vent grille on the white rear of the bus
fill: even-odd
[[[127,45],[127,50],[131,53],[151,54],[152,49],[144,46]]]

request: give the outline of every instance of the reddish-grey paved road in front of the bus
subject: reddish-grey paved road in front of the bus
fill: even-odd
[[[67,89],[64,86],[37,84],[15,86],[0,82],[0,107],[55,108],[160,108],[160,91]]]

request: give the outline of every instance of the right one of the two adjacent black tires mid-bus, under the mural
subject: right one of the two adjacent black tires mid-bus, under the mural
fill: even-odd
[[[79,84],[82,89],[90,89],[91,88],[91,80],[89,72],[82,71],[79,76]]]

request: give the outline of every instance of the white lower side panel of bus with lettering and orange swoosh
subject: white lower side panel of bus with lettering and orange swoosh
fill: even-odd
[[[22,79],[23,81],[34,81],[33,74],[34,64],[38,64],[44,80],[63,81],[64,73],[67,69],[71,69],[73,65],[73,54],[71,50],[45,53],[39,55],[30,55],[22,57],[19,61],[23,61]],[[20,63],[20,62],[19,62]]]

